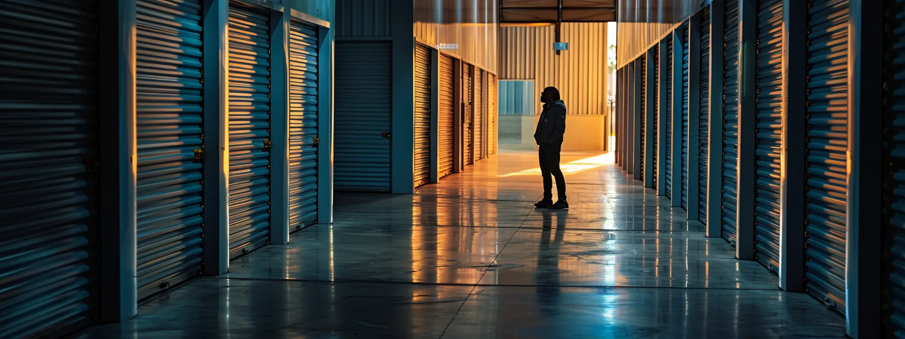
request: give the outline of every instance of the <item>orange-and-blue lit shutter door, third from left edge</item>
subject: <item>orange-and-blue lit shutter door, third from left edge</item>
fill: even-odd
[[[230,4],[230,258],[270,242],[270,51],[270,15]]]

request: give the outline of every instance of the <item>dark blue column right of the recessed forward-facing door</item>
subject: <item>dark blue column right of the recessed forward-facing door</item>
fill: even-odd
[[[414,193],[414,6],[412,0],[391,0],[393,36],[393,136],[390,187],[393,193]]]

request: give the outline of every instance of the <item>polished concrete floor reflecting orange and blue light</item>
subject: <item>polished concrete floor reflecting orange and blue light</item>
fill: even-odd
[[[564,154],[571,209],[533,209],[536,155],[502,154],[414,195],[338,193],[295,233],[81,338],[844,337],[608,155]]]

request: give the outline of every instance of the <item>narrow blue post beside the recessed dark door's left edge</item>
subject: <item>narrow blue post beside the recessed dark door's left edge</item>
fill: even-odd
[[[330,11],[334,9],[335,7]],[[335,15],[329,15],[330,23],[334,17]],[[333,223],[334,34],[335,30],[331,26],[318,29],[318,223],[324,224]]]

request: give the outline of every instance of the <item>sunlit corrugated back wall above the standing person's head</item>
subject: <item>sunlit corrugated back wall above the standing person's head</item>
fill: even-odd
[[[560,30],[568,51],[557,55],[554,26],[501,27],[501,41],[508,45],[501,47],[507,58],[500,60],[500,80],[533,78],[538,91],[548,86],[559,89],[569,114],[605,114],[606,24],[567,23]]]

